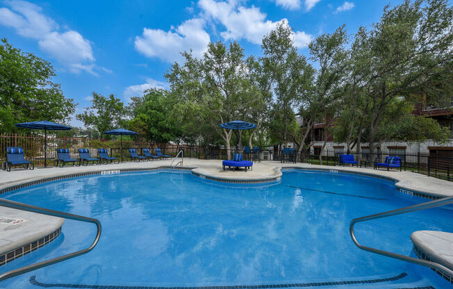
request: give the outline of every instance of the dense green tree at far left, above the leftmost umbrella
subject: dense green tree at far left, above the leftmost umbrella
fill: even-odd
[[[16,131],[17,122],[69,121],[76,104],[52,82],[53,76],[53,67],[46,60],[1,40],[0,132]]]

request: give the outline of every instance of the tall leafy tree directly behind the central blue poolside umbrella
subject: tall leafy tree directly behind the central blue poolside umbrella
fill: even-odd
[[[219,124],[249,117],[256,104],[262,104],[262,94],[251,82],[244,59],[244,49],[237,42],[226,47],[222,42],[208,44],[203,58],[183,53],[183,65],[175,63],[165,78],[172,94],[181,104],[192,103],[200,126],[209,124],[224,140],[230,157],[232,131],[220,129]],[[258,101],[257,101],[258,99]],[[208,133],[210,135],[210,133]],[[211,135],[212,136],[212,135]]]

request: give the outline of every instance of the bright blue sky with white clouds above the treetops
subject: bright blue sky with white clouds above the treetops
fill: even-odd
[[[209,41],[237,40],[247,55],[261,54],[261,39],[287,19],[300,53],[321,33],[346,24],[349,34],[379,21],[396,0],[111,0],[2,1],[0,38],[53,64],[66,97],[90,106],[91,92],[128,102],[151,87],[180,51],[201,56]],[[81,126],[81,122],[72,121]]]

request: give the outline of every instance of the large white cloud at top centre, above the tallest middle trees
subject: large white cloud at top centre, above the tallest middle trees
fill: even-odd
[[[266,20],[265,13],[261,13],[259,8],[238,6],[235,1],[200,0],[198,5],[206,17],[225,26],[226,31],[220,33],[225,40],[245,39],[254,44],[261,44],[263,37],[276,28],[279,22],[287,21]],[[298,48],[306,47],[311,40],[311,35],[303,31],[295,31],[294,36]]]

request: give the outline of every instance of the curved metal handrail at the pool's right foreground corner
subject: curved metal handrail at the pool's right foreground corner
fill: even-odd
[[[369,215],[369,216],[365,216],[365,217],[358,217],[358,218],[352,220],[351,223],[349,224],[349,233],[351,234],[351,238],[354,241],[354,244],[356,244],[356,246],[359,247],[362,250],[370,251],[372,253],[376,253],[376,254],[379,254],[379,255],[387,256],[387,257],[390,257],[390,258],[395,258],[395,259],[406,261],[406,262],[410,262],[410,263],[415,263],[415,264],[418,264],[418,265],[423,265],[423,266],[426,266],[426,267],[430,267],[431,269],[438,270],[440,272],[449,274],[450,276],[453,276],[453,271],[452,270],[450,270],[447,267],[445,267],[443,265],[440,265],[438,263],[431,262],[431,261],[425,261],[425,260],[422,260],[422,259],[413,258],[413,257],[409,257],[409,256],[404,256],[404,255],[392,253],[392,252],[389,252],[389,251],[383,251],[383,250],[379,250],[379,249],[374,249],[372,247],[363,246],[357,241],[356,236],[354,235],[354,225],[356,223],[365,222],[365,221],[369,221],[369,220],[380,219],[382,217],[390,217],[390,216],[394,216],[394,215],[401,215],[401,214],[405,214],[405,213],[411,213],[411,212],[415,212],[417,210],[425,210],[427,208],[435,208],[435,207],[444,206],[444,205],[447,205],[447,204],[453,204],[453,197],[444,197],[442,199],[436,199],[434,201],[427,201],[425,203],[417,204],[417,205],[414,205],[414,206],[398,208],[396,210],[389,210],[389,211],[384,212],[384,213],[378,213],[378,214]]]

